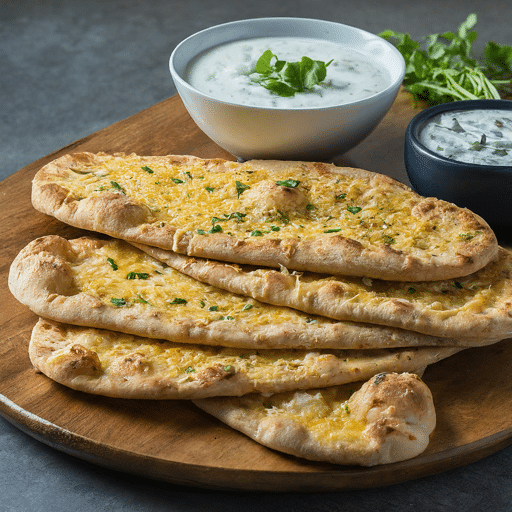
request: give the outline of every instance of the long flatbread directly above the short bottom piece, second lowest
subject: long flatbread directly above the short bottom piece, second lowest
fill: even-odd
[[[34,368],[70,388],[117,398],[272,394],[415,371],[456,349],[244,350],[180,344],[39,319]]]

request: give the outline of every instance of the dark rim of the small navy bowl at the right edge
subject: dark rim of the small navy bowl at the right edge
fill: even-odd
[[[432,160],[440,161],[446,164],[450,164],[453,170],[486,170],[502,173],[510,173],[512,171],[512,165],[488,165],[478,164],[470,162],[461,162],[459,160],[453,160],[447,158],[431,149],[427,148],[419,138],[420,130],[426,125],[426,123],[437,114],[442,112],[459,111],[459,110],[510,110],[512,112],[512,100],[506,99],[476,99],[476,100],[460,100],[452,101],[449,103],[441,103],[432,107],[427,107],[416,114],[409,122],[405,131],[405,140],[409,140],[412,145],[421,151],[424,155],[430,157]]]

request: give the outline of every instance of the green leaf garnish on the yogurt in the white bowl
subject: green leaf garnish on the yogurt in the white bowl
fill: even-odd
[[[266,50],[256,62],[256,73],[261,76],[253,80],[279,96],[291,97],[297,92],[313,89],[325,80],[327,66],[331,62],[309,57],[302,57],[298,62],[286,62],[279,60],[272,50]]]

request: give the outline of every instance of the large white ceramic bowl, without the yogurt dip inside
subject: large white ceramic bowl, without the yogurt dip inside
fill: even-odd
[[[331,107],[252,107],[215,99],[184,79],[198,54],[254,37],[306,37],[341,44],[379,63],[389,85],[368,98]],[[326,160],[361,142],[384,117],[405,73],[398,50],[358,28],[304,18],[257,18],[202,30],[182,41],[169,60],[176,89],[192,119],[219,146],[241,160]]]

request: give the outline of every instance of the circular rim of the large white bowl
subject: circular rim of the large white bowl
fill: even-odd
[[[203,35],[207,34],[208,32],[222,30],[223,28],[227,28],[227,27],[234,27],[235,25],[244,25],[244,24],[247,24],[247,23],[250,23],[250,24],[252,24],[252,23],[265,24],[265,23],[269,23],[269,22],[271,22],[271,23],[277,23],[277,22],[284,22],[284,23],[290,23],[290,22],[291,23],[293,23],[293,22],[299,22],[299,23],[313,22],[313,23],[319,23],[319,24],[330,25],[330,26],[338,26],[338,27],[341,26],[341,27],[347,28],[349,30],[359,32],[362,35],[370,36],[371,38],[379,40],[379,42],[381,42],[383,44],[383,46],[385,46],[388,50],[390,50],[390,52],[396,57],[397,64],[399,65],[399,68],[400,68],[400,70],[398,72],[398,78],[396,80],[393,80],[386,88],[382,89],[381,91],[378,91],[375,94],[372,94],[371,96],[368,96],[366,98],[362,98],[360,100],[352,101],[352,102],[349,102],[349,103],[339,103],[339,104],[336,104],[336,105],[330,105],[330,106],[325,106],[325,107],[317,106],[317,107],[286,108],[286,107],[268,107],[268,106],[259,106],[259,105],[244,105],[242,103],[236,103],[236,102],[232,102],[232,101],[227,101],[227,100],[222,100],[222,99],[219,99],[219,98],[215,98],[214,96],[206,94],[206,93],[196,89],[192,85],[190,85],[185,79],[183,79],[181,77],[181,75],[176,70],[175,65],[174,65],[174,62],[175,62],[175,59],[176,59],[176,55],[182,49],[182,47],[184,45],[186,45],[187,43],[189,43],[192,39],[194,39],[194,38],[196,38],[198,36],[203,36]],[[252,37],[257,37],[257,36],[252,36]],[[252,38],[252,37],[249,37],[249,38]],[[313,37],[311,37],[311,38],[313,39]],[[232,39],[231,41],[237,41],[239,39],[244,39],[244,37]],[[322,39],[322,37],[316,37],[316,39]],[[229,42],[229,41],[226,41],[226,42]],[[223,43],[218,43],[218,44],[223,44]],[[217,46],[217,45],[212,45],[211,47],[213,48],[214,46]],[[172,53],[171,53],[171,55],[169,57],[169,70],[170,70],[172,79],[175,82],[178,82],[182,87],[188,89],[189,92],[193,92],[194,94],[197,94],[197,95],[201,96],[203,99],[210,100],[210,101],[215,101],[217,103],[224,104],[224,105],[229,105],[231,107],[245,108],[245,109],[256,109],[256,110],[262,110],[262,111],[270,110],[272,112],[279,112],[279,111],[281,111],[281,112],[320,111],[320,110],[337,109],[337,108],[340,108],[340,107],[361,105],[361,104],[364,104],[365,102],[373,101],[373,100],[375,100],[375,98],[377,98],[379,96],[389,94],[391,91],[393,91],[395,89],[398,91],[398,88],[399,88],[400,84],[402,83],[403,78],[405,76],[405,68],[406,68],[406,64],[405,64],[405,60],[404,60],[402,54],[389,41],[386,41],[384,38],[381,38],[381,37],[379,37],[376,34],[373,34],[371,32],[368,32],[367,30],[364,30],[364,29],[361,29],[361,28],[358,28],[358,27],[354,27],[352,25],[346,25],[344,23],[338,23],[336,21],[321,20],[321,19],[316,19],[316,18],[289,17],[289,16],[283,16],[283,17],[276,16],[276,17],[265,17],[265,18],[247,18],[247,19],[242,19],[242,20],[229,21],[229,22],[226,22],[226,23],[221,23],[219,25],[213,25],[211,27],[207,27],[205,29],[202,29],[202,30],[199,30],[197,32],[194,32],[193,34],[189,35],[188,37],[186,37],[185,39],[180,41],[175,46],[175,48],[173,49],[173,51],[172,51]]]

